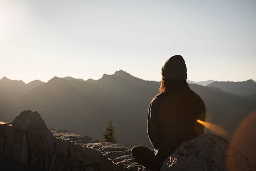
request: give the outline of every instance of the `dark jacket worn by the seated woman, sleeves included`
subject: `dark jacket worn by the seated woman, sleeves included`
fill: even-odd
[[[147,133],[153,147],[166,156],[173,153],[182,142],[204,134],[205,106],[193,91],[161,93],[150,103]]]

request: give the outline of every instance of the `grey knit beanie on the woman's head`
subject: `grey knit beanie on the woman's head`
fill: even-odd
[[[182,56],[174,55],[162,67],[163,78],[169,80],[186,80],[187,67]]]

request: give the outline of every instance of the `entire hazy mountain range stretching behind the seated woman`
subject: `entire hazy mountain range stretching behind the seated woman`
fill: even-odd
[[[240,122],[256,110],[255,83],[206,82],[204,85],[211,83],[189,86],[204,100],[206,120],[225,129],[228,134],[222,136],[230,140]],[[231,86],[231,91],[227,88],[231,84],[240,86]],[[151,146],[147,110],[158,88],[159,82],[145,81],[123,70],[86,81],[54,77],[47,83],[36,80],[25,84],[4,77],[0,80],[0,121],[12,121],[24,109],[37,110],[50,129],[68,129],[102,140],[112,119],[118,143]],[[237,89],[246,96],[236,95]]]

